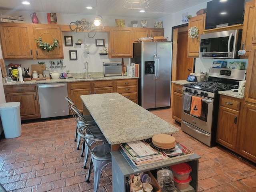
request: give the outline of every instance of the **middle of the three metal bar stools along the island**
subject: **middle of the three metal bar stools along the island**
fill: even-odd
[[[80,113],[79,109],[75,105],[71,105],[71,108],[74,111],[74,114],[76,114],[78,116],[78,118],[80,118],[82,120],[84,125],[88,124],[88,123],[86,123],[86,120],[84,119],[83,115]],[[95,139],[95,138],[100,139],[100,141],[103,142],[104,144],[108,142],[106,140],[106,138],[104,137],[104,135],[102,134],[100,128],[97,125],[92,126],[92,124],[88,124],[87,127],[90,128],[90,131],[89,131],[89,129],[85,130],[86,137],[89,138],[89,139],[86,139],[87,144],[89,146],[92,145],[92,143],[94,142],[94,140],[92,140],[92,139]],[[81,138],[80,134],[78,134],[78,137]],[[92,139],[90,139],[90,138],[92,138]],[[84,148],[84,169],[86,169],[86,163],[89,158],[90,149],[85,144],[85,140],[83,140],[83,148]]]

